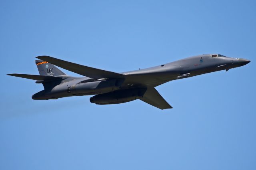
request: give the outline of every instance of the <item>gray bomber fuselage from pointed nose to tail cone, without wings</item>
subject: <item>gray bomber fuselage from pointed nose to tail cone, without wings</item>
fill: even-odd
[[[118,79],[92,79],[89,77],[62,76],[51,81],[32,99],[58,99],[61,97],[98,95],[124,89],[156,87],[168,81],[192,77],[214,71],[240,67],[249,63],[247,59],[225,57],[218,54],[197,55],[147,69],[120,73]],[[40,82],[38,82],[40,83]]]

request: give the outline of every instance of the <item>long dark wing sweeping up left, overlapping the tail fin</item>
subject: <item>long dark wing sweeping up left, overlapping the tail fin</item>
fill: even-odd
[[[53,65],[57,65],[58,67],[61,67],[63,69],[66,69],[66,70],[69,70],[74,73],[78,73],[80,75],[84,75],[84,76],[90,77],[90,78],[117,79],[117,78],[122,78],[124,76],[119,73],[96,69],[93,67],[88,67],[88,66],[84,66],[84,65],[80,65],[80,64],[76,64],[76,63],[71,63],[69,61],[64,61],[64,60],[57,59],[57,58],[50,57],[50,56],[38,56],[36,58],[42,59],[44,61],[52,63]]]

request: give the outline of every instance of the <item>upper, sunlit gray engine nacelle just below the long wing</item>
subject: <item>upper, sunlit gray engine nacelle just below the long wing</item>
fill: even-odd
[[[120,83],[121,81],[121,83]],[[74,95],[80,93],[108,93],[120,89],[123,80],[110,79],[103,81],[92,81],[86,83],[78,83],[68,87],[67,92]]]

